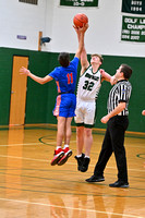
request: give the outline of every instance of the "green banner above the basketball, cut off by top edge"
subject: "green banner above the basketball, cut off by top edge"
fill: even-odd
[[[98,7],[98,0],[60,0],[64,7]]]

